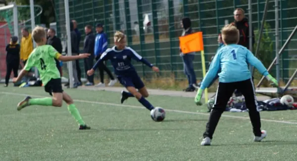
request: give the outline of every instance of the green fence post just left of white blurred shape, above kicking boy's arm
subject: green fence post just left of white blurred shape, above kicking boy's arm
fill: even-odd
[[[144,55],[144,44],[145,42],[145,34],[144,34],[144,24],[143,24],[143,9],[142,9],[142,0],[137,0],[137,10],[138,10],[138,23],[139,23],[139,39],[140,39],[140,51],[141,55]],[[143,76],[145,76],[145,67],[143,67]]]

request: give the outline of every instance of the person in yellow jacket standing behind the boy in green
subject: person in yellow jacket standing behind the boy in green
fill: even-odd
[[[29,55],[33,51],[33,39],[27,28],[22,29],[22,35],[23,37],[21,39],[20,58],[25,66]]]

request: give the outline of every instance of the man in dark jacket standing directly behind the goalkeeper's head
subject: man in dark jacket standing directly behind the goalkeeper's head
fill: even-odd
[[[248,24],[248,20],[245,17],[245,10],[242,8],[237,8],[234,11],[234,22],[232,23],[233,25],[235,25],[237,27],[237,29],[239,30],[239,34],[240,34],[240,40],[238,42],[238,44],[243,45],[245,47],[247,47],[247,49],[249,49],[249,24]],[[255,42],[254,39],[254,33],[253,30],[252,31],[252,45]]]

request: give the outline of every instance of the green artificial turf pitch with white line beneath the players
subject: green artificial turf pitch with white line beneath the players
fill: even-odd
[[[0,87],[0,161],[296,161],[297,111],[260,112],[267,138],[252,141],[248,113],[223,114],[212,146],[202,147],[208,120],[193,98],[150,96],[165,109],[154,122],[135,98],[119,92],[65,89],[91,130],[80,131],[61,108],[16,110],[25,95],[49,96],[43,87]],[[175,110],[175,111],[174,111]],[[237,117],[237,118],[236,118]],[[276,122],[275,122],[276,121]],[[283,122],[282,122],[283,121]]]

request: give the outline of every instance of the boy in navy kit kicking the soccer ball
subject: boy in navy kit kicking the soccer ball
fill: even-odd
[[[138,76],[134,66],[131,64],[131,59],[141,61],[154,72],[159,72],[159,68],[153,66],[132,48],[126,46],[126,36],[122,32],[117,31],[114,34],[114,44],[115,46],[106,49],[106,51],[102,53],[94,67],[87,72],[88,75],[93,75],[102,61],[110,60],[117,79],[129,91],[122,91],[121,103],[129,97],[136,97],[142,105],[151,111],[154,107],[145,99],[145,97],[148,97],[148,90]]]

